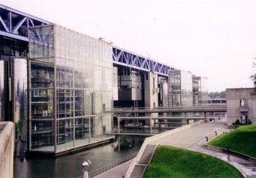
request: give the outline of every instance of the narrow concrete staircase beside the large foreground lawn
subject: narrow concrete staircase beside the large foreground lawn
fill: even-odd
[[[131,178],[142,177],[145,171],[145,167],[147,167],[147,164],[149,164],[156,147],[157,145],[147,145],[145,147],[145,150],[141,155],[140,161],[134,166],[134,169],[132,170],[132,173],[130,175]]]

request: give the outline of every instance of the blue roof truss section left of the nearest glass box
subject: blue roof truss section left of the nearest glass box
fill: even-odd
[[[51,24],[35,16],[0,5],[0,35],[28,41],[28,27]]]

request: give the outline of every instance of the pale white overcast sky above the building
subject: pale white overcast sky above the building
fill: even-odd
[[[253,87],[256,1],[0,0],[1,5],[103,37],[207,77],[209,92]]]

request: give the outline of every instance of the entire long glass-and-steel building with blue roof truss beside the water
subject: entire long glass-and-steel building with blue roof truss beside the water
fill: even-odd
[[[190,106],[207,96],[205,78],[3,5],[0,11],[0,121],[15,123],[15,156],[109,141],[118,126],[113,106]]]

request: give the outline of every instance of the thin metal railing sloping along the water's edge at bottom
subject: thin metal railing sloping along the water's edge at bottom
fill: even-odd
[[[93,178],[93,177],[96,177],[97,175],[100,175],[101,173],[104,173],[105,171],[109,171],[110,169],[113,169],[114,167],[119,166],[120,164],[123,164],[125,162],[132,160],[133,158],[135,158],[137,156],[137,154],[138,154],[138,152],[131,154],[129,156],[126,156],[125,158],[117,160],[116,162],[113,162],[111,164],[108,164],[107,166],[96,169],[95,171],[91,171],[90,173],[88,173],[88,177]],[[82,178],[82,177],[83,176],[78,177],[78,178]]]

